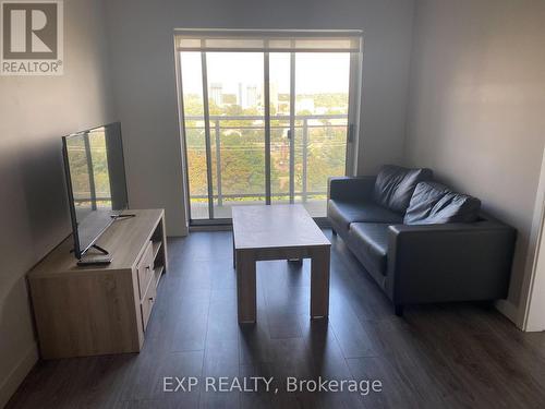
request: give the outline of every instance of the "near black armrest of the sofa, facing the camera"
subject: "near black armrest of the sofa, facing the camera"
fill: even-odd
[[[397,305],[507,297],[516,230],[500,222],[395,225],[387,290]]]

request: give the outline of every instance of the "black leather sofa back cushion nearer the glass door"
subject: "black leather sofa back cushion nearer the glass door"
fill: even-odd
[[[390,210],[404,213],[416,184],[432,180],[431,169],[407,169],[385,165],[377,175],[373,200]]]

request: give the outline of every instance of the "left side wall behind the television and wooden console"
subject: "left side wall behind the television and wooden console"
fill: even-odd
[[[37,358],[25,273],[71,229],[60,137],[116,119],[102,13],[64,1],[63,76],[0,76],[0,407]]]

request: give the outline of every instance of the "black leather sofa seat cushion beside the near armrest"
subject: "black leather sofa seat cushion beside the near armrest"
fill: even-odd
[[[350,239],[360,248],[360,253],[370,264],[366,267],[385,276],[387,274],[388,226],[378,222],[353,222],[349,230]]]

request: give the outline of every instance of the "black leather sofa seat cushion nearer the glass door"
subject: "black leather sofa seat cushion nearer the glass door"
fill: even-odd
[[[327,216],[348,230],[351,222],[385,222],[397,225],[403,222],[403,216],[384,208],[373,202],[351,202],[329,200]]]

